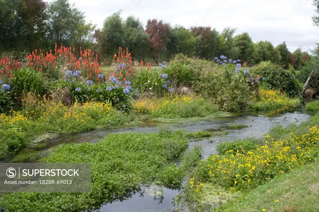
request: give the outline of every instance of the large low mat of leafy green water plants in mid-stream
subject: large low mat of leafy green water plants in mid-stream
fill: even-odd
[[[111,134],[98,143],[61,145],[42,162],[91,163],[92,192],[4,194],[0,206],[7,211],[21,208],[33,212],[83,211],[125,200],[138,191],[142,183],[152,182],[161,168],[180,156],[187,145],[187,139],[174,132]],[[174,165],[171,168],[174,169]],[[163,175],[163,178],[175,184],[181,173],[171,174],[169,169],[164,168],[170,176]],[[15,204],[18,200],[19,204]]]

